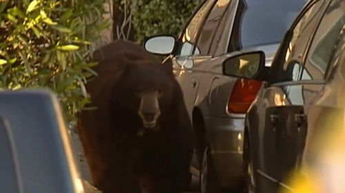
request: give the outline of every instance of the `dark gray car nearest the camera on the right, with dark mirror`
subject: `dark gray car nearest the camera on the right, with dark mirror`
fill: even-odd
[[[345,191],[344,43],[345,1],[311,0],[286,33],[270,69],[262,52],[224,63],[225,74],[265,81],[246,116],[248,192],[294,192],[293,179],[319,182],[312,186],[323,187],[320,192]],[[247,60],[251,71],[234,70],[237,60]]]

